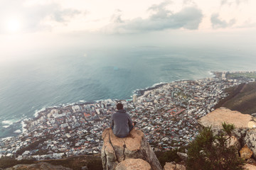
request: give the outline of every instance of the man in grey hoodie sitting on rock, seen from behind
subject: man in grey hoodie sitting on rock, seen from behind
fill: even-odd
[[[117,104],[117,112],[111,116],[111,128],[117,137],[127,137],[133,128],[132,119],[123,109],[122,103]]]

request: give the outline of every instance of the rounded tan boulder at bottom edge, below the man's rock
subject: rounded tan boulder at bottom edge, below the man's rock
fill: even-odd
[[[125,159],[117,164],[115,170],[151,170],[151,166],[143,159]]]

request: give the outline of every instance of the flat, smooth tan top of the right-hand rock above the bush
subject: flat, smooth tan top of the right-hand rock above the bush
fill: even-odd
[[[232,123],[235,128],[248,128],[248,123],[256,120],[251,115],[231,111],[228,108],[217,108],[215,111],[200,118],[198,123],[203,127],[212,126],[213,129],[222,129],[222,123]]]

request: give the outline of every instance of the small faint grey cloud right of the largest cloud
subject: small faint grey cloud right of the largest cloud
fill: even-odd
[[[221,20],[219,18],[218,13],[213,13],[212,16],[210,16],[210,21],[212,23],[213,28],[227,28],[230,26],[233,26],[235,24],[235,18],[231,19],[229,22],[225,20]]]

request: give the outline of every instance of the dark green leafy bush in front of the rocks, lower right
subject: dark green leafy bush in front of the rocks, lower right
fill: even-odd
[[[223,123],[219,135],[213,135],[211,128],[204,128],[188,145],[188,170],[242,170],[245,161],[235,147],[227,147],[234,125]],[[229,137],[225,136],[226,132]]]

